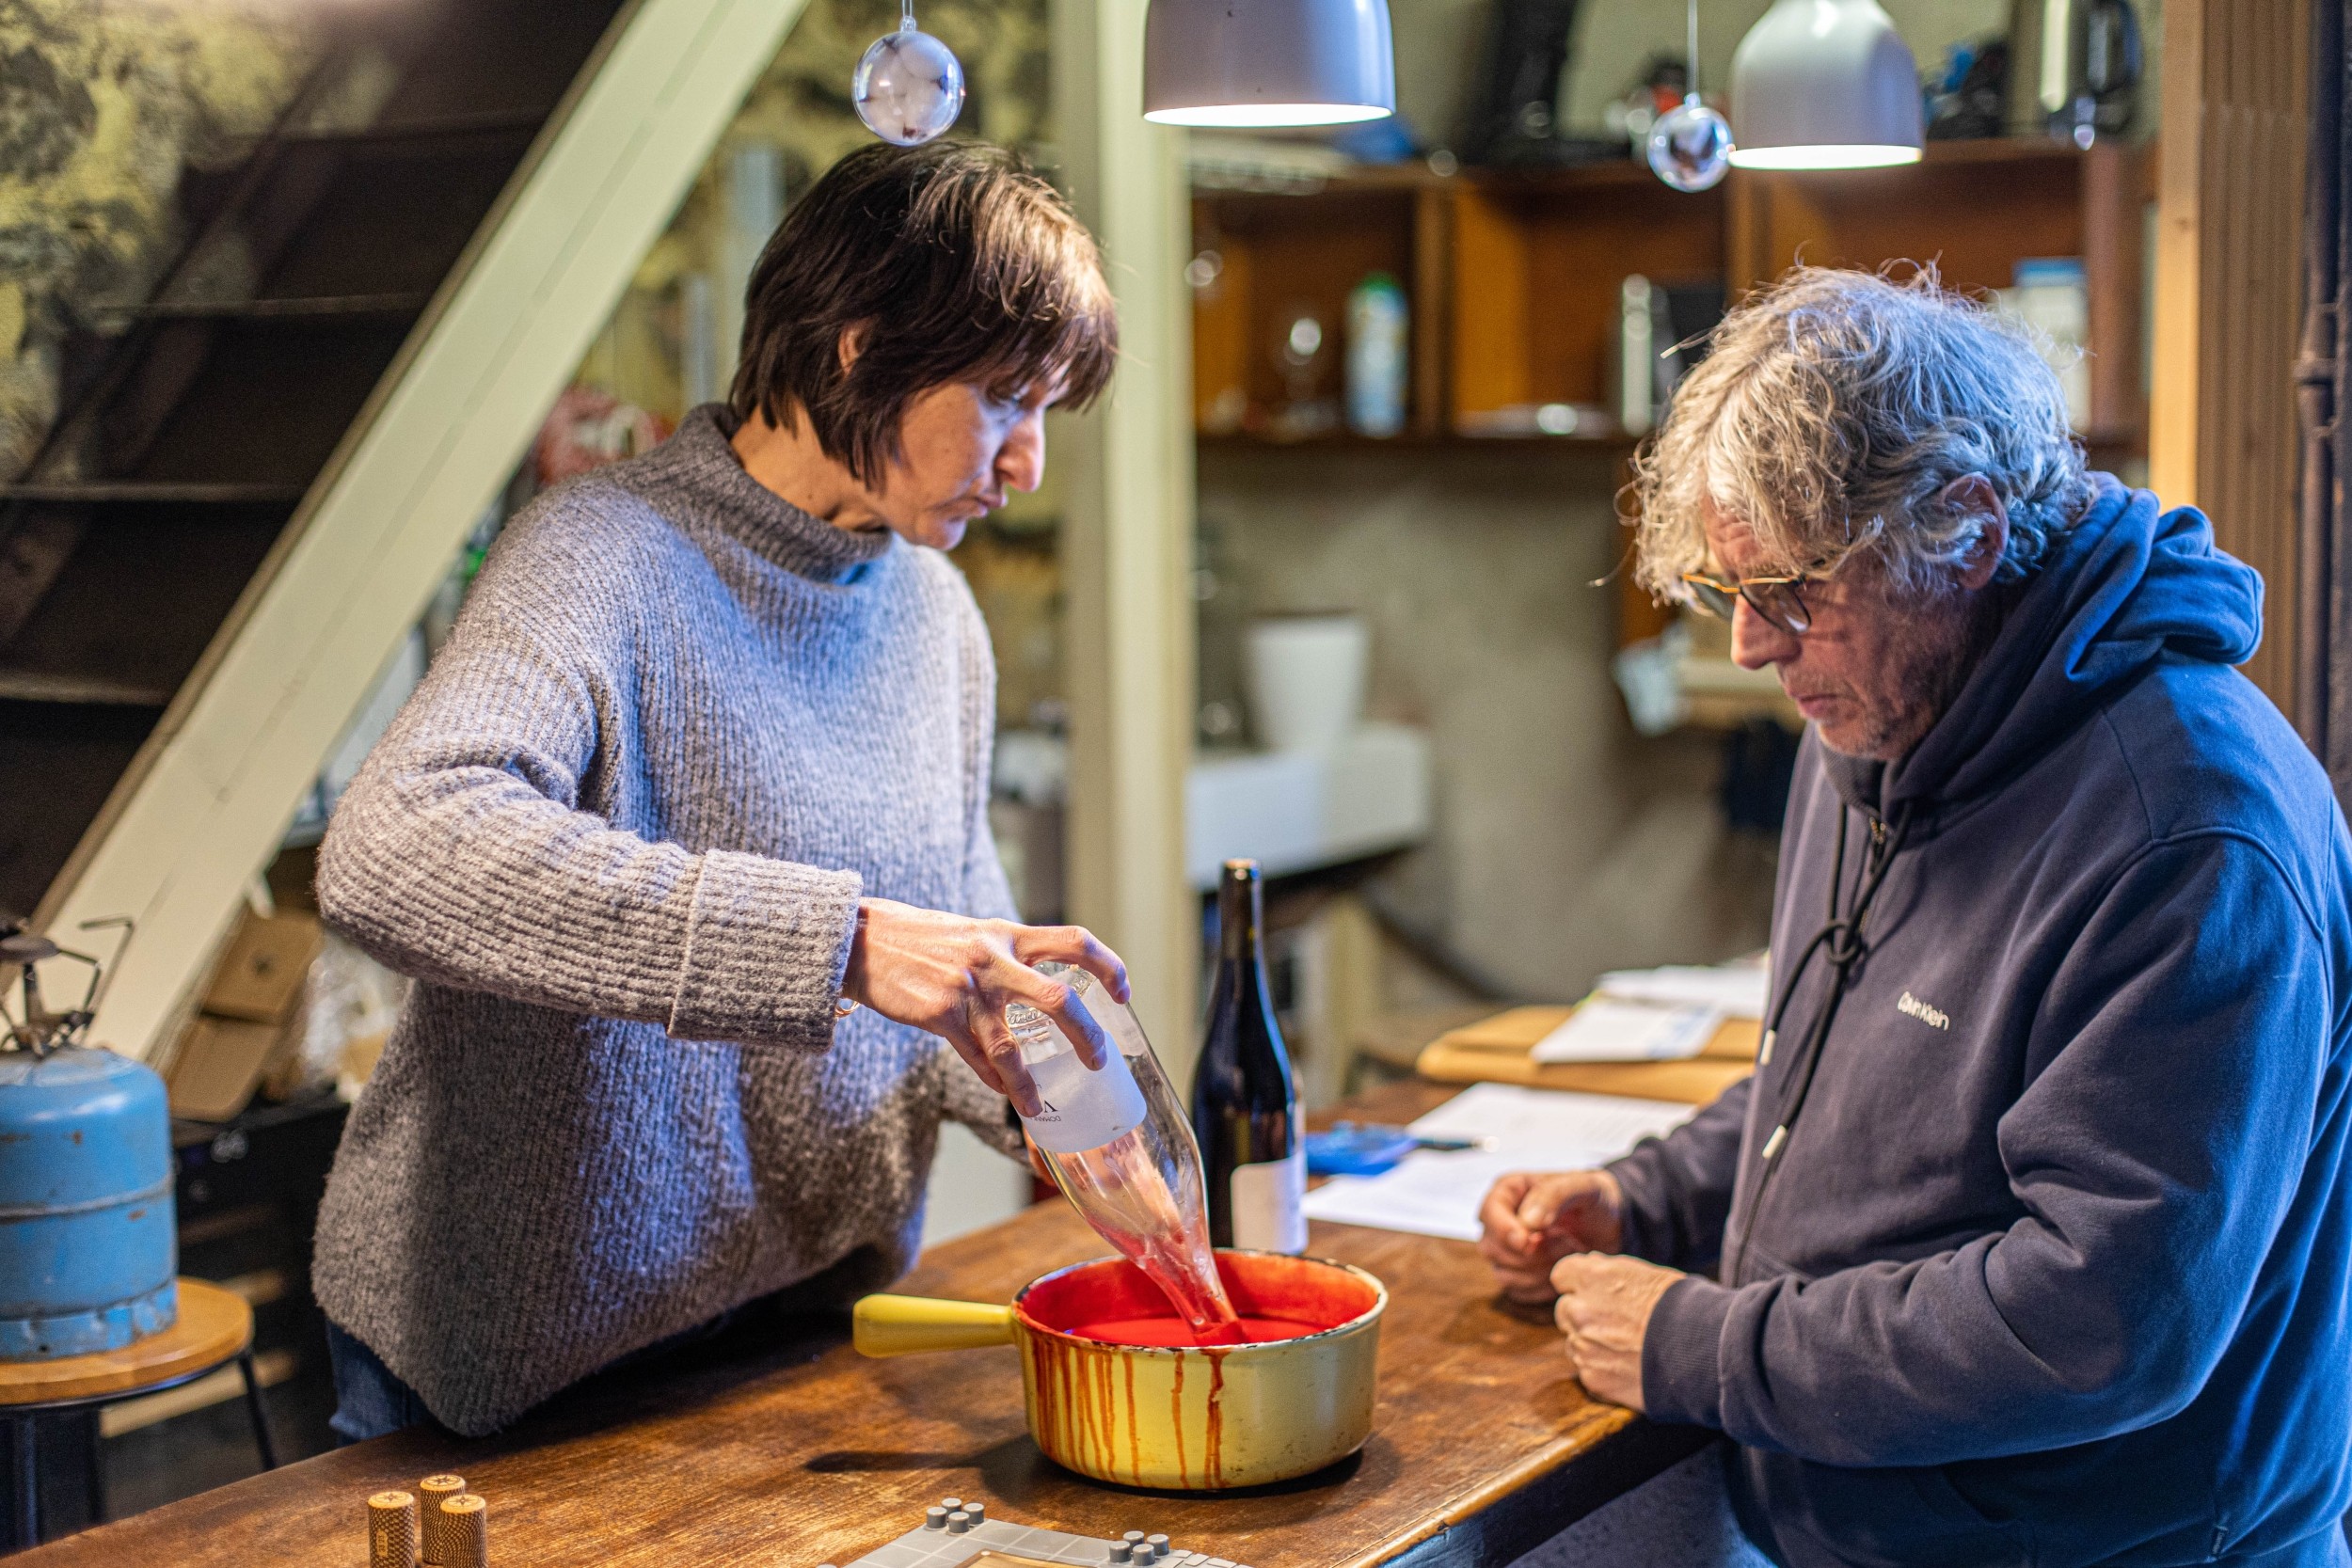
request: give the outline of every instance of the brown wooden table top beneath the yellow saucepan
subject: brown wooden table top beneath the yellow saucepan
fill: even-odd
[[[1345,1110],[1404,1119],[1449,1093],[1404,1084]],[[934,1248],[896,1288],[1000,1302],[1101,1251],[1065,1204],[1040,1204]],[[1254,1568],[1491,1568],[1712,1436],[1588,1399],[1559,1335],[1505,1307],[1468,1244],[1317,1222],[1308,1251],[1390,1288],[1381,1403],[1359,1455],[1282,1486],[1209,1495],[1084,1481],[1030,1441],[1014,1349],[866,1361],[833,1316],[597,1378],[494,1439],[400,1432],[19,1561],[360,1568],[367,1495],[456,1472],[489,1500],[501,1568],[849,1563],[943,1495],[1082,1535],[1164,1530]]]

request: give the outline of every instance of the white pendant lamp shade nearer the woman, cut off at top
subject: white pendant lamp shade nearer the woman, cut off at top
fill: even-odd
[[[1388,0],[1150,0],[1145,120],[1275,127],[1392,113]]]

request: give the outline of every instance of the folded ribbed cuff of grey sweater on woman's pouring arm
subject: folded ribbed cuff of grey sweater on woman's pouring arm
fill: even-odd
[[[670,1039],[826,1051],[863,886],[856,872],[703,851]]]

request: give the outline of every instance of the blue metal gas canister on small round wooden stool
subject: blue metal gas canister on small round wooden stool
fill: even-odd
[[[0,1051],[0,1361],[120,1349],[179,1316],[162,1079]]]

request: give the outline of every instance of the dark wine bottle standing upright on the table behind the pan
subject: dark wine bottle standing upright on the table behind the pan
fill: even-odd
[[[1305,1119],[1265,985],[1265,891],[1256,860],[1225,860],[1216,919],[1216,990],[1192,1072],[1209,1237],[1216,1246],[1298,1253],[1308,1244]]]

